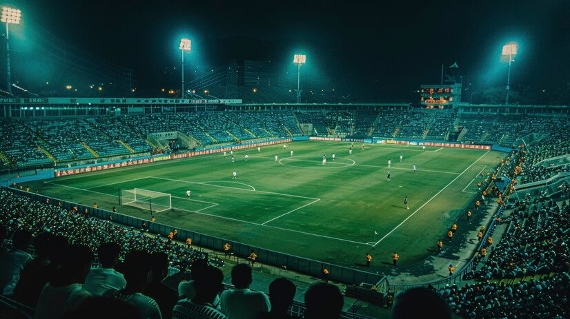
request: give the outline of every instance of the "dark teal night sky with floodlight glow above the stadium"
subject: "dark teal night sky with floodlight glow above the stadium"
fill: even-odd
[[[293,54],[303,52],[315,87],[370,99],[408,98],[421,84],[440,83],[442,65],[455,61],[474,90],[504,85],[500,53],[510,41],[520,45],[511,85],[550,90],[570,82],[565,0],[10,1],[23,16],[21,25],[10,26],[14,63],[27,48],[49,55],[50,47],[66,46],[88,52],[86,60],[92,54],[132,69],[148,96],[167,81],[165,70],[179,68],[181,37],[193,41],[185,59],[194,67],[248,59],[296,72]],[[30,72],[37,67],[13,70],[12,77],[34,87],[61,74]]]

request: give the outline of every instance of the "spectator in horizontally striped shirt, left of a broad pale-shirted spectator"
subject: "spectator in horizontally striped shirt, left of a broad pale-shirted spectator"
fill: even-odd
[[[200,276],[194,278],[195,296],[179,300],[173,309],[173,319],[226,319],[224,313],[212,305],[217,295],[222,292],[224,274],[213,266],[202,269]]]

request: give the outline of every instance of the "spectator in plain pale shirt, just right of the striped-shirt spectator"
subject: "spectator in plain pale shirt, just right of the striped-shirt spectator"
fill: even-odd
[[[249,289],[252,270],[249,265],[237,264],[232,269],[232,284],[235,289],[228,289],[219,297],[222,312],[228,319],[255,319],[257,313],[269,311],[269,298],[261,291]]]

